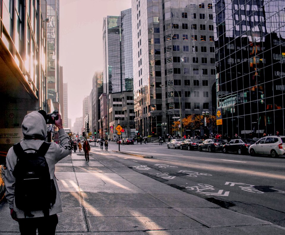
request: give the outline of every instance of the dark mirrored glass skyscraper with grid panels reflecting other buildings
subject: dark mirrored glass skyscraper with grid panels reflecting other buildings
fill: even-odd
[[[285,1],[213,1],[218,132],[284,134]]]

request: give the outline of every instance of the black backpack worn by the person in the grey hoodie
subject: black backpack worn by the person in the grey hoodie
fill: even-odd
[[[56,187],[45,159],[50,143],[43,142],[35,153],[26,153],[20,143],[13,146],[17,163],[12,172],[15,177],[15,204],[25,212],[25,217],[33,217],[31,211],[42,210],[44,216],[56,202]],[[27,149],[34,150],[34,149]]]

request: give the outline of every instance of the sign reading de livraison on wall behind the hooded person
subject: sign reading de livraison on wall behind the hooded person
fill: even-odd
[[[16,144],[23,138],[22,128],[0,129],[0,144]]]

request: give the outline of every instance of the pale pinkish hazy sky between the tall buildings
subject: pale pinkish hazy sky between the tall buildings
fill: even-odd
[[[103,71],[103,18],[131,8],[131,0],[59,0],[59,65],[68,83],[68,118],[83,115],[92,77]]]

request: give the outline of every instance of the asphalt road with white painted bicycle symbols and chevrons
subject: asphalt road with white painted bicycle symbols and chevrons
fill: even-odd
[[[92,150],[100,151],[99,147]],[[224,208],[285,227],[285,157],[167,149],[166,144],[120,145],[121,151],[153,155],[153,158],[111,150],[118,150],[118,145],[110,143],[109,151],[101,154]]]

